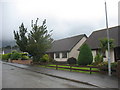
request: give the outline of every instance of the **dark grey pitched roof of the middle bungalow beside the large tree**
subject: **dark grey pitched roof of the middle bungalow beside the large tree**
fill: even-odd
[[[87,37],[85,34],[69,37],[65,39],[55,40],[52,43],[52,47],[47,53],[52,52],[64,52],[64,51],[71,51],[71,49],[83,38]]]

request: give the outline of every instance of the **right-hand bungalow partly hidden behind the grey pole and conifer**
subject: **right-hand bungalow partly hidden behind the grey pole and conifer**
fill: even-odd
[[[109,36],[111,39],[114,39],[114,49],[110,50],[111,62],[116,62],[120,60],[120,26],[115,26],[109,28]],[[90,48],[92,49],[93,57],[95,58],[98,53],[98,49],[100,49],[100,41],[99,39],[107,37],[107,30],[102,29],[98,31],[94,31],[89,38],[86,40]],[[108,60],[108,52],[104,53],[104,61]]]

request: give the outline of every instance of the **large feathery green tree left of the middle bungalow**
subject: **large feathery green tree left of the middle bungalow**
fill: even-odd
[[[23,44],[23,46],[21,46],[21,44],[17,45],[22,48],[21,51],[23,50],[23,47],[25,47],[26,52],[28,52],[30,55],[33,56],[33,61],[34,62],[38,62],[40,61],[40,58],[45,54],[45,52],[51,47],[51,43],[53,41],[53,39],[51,38],[51,34],[50,32],[48,33],[47,30],[47,26],[46,24],[46,20],[43,21],[42,25],[39,26],[37,25],[38,23],[38,18],[35,22],[35,24],[33,24],[33,20],[32,20],[32,30],[30,30],[30,32],[27,34],[27,37],[25,36],[27,32],[24,33],[24,36],[21,37],[21,32],[15,32],[15,40],[16,42],[20,42],[19,38],[23,38],[26,37],[26,44]],[[21,30],[21,29],[20,29]],[[22,29],[24,32],[24,29]]]

